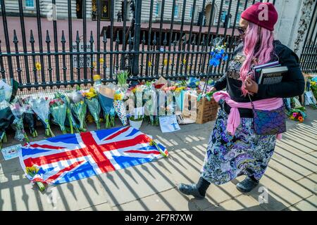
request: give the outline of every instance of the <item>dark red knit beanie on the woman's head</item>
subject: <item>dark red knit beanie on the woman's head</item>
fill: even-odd
[[[278,12],[273,4],[269,2],[258,2],[243,11],[241,17],[244,18],[244,20],[259,25],[259,27],[273,31],[274,25],[278,21]]]

